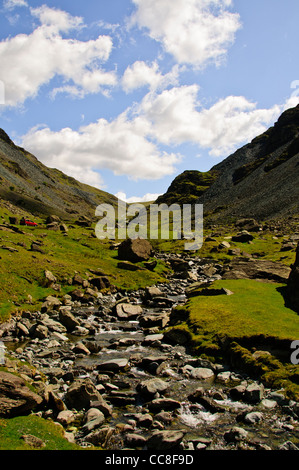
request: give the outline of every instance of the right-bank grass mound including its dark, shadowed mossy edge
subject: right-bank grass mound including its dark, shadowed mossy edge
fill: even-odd
[[[299,399],[299,366],[290,361],[291,342],[299,339],[299,316],[285,306],[283,284],[249,279],[222,280],[212,288],[226,288],[233,295],[198,295],[177,307],[196,354],[212,360],[232,361],[274,388],[284,387]],[[270,356],[255,358],[261,349]]]

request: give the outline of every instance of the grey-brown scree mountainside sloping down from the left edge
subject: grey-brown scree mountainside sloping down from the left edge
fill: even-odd
[[[72,220],[93,217],[101,203],[117,205],[109,193],[43,165],[0,129],[0,198],[34,216]]]

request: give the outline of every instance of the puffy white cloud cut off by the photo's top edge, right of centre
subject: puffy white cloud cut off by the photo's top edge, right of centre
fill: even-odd
[[[178,63],[219,63],[234,42],[240,18],[231,0],[133,0],[132,24],[146,28]]]

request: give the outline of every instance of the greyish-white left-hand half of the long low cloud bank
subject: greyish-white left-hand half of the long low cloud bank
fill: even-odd
[[[123,113],[112,122],[99,119],[79,131],[32,129],[23,136],[22,145],[47,166],[88,184],[93,177],[98,179],[101,169],[136,181],[173,174],[180,156],[161,151],[147,139],[148,132],[146,120],[138,116],[130,120]]]

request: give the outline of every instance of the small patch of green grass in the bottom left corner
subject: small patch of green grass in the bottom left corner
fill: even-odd
[[[80,450],[64,438],[61,426],[35,415],[0,419],[0,450],[36,450],[25,443],[21,436],[31,434],[46,445],[41,450]]]

